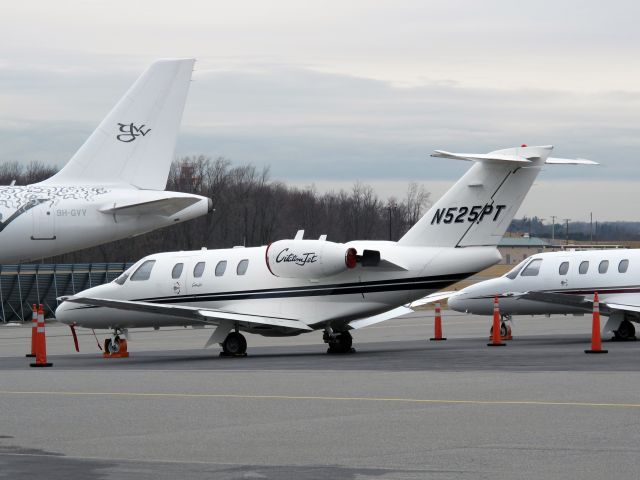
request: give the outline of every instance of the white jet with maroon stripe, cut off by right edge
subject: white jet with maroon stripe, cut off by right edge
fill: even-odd
[[[640,250],[588,250],[532,255],[506,275],[479,282],[449,297],[449,307],[477,315],[579,315],[593,310],[609,317],[604,331],[617,339],[635,336],[640,322]]]

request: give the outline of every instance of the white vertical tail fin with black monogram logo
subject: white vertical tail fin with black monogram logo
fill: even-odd
[[[194,62],[152,63],[62,170],[42,183],[164,190]]]

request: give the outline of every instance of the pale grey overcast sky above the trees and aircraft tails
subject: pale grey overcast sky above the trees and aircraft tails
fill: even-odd
[[[166,4],[166,6],[165,6]],[[434,149],[555,145],[519,215],[640,220],[640,3],[29,1],[0,11],[0,161],[64,164],[156,58],[195,57],[178,155],[319,190],[443,193]]]

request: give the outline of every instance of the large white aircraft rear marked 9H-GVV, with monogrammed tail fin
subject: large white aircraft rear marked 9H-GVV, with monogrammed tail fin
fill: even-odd
[[[0,263],[49,257],[206,214],[210,199],[167,192],[193,59],[159,60],[57,174],[0,186]]]

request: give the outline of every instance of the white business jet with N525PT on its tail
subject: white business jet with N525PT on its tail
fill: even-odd
[[[329,352],[351,350],[352,329],[411,311],[409,302],[500,260],[496,249],[552,147],[433,156],[474,165],[398,241],[333,243],[325,236],[268,246],[150,255],[112,283],[67,298],[56,318],[108,328],[106,346],[134,327],[215,325],[206,346],[244,354],[240,331],[324,330]]]

